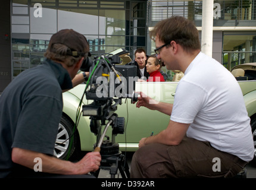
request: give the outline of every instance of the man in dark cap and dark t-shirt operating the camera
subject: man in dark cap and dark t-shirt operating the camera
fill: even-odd
[[[21,72],[0,97],[0,178],[90,178],[99,168],[99,153],[88,153],[77,163],[54,157],[62,115],[62,91],[73,79],[89,45],[80,33],[61,30],[53,34],[45,61]],[[42,172],[35,172],[34,160]]]

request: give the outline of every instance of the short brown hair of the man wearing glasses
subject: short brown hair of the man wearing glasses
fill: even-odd
[[[153,40],[155,40],[155,36],[158,36],[164,43],[174,40],[186,52],[201,49],[195,23],[181,16],[173,16],[158,22],[150,32],[150,36]]]

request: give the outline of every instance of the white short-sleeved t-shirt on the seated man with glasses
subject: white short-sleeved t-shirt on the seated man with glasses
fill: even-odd
[[[177,85],[171,121],[191,124],[187,136],[249,162],[254,157],[250,118],[235,77],[200,52]]]

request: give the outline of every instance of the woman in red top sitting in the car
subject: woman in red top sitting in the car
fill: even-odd
[[[146,60],[146,72],[149,73],[147,82],[164,82],[164,77],[160,72],[162,62],[157,59],[157,56],[151,55]]]

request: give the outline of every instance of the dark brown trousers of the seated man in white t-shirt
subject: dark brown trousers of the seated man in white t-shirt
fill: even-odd
[[[215,159],[214,159],[215,158]],[[217,158],[217,159],[216,159]],[[133,155],[131,178],[232,178],[247,162],[185,137],[179,145],[149,144]]]

